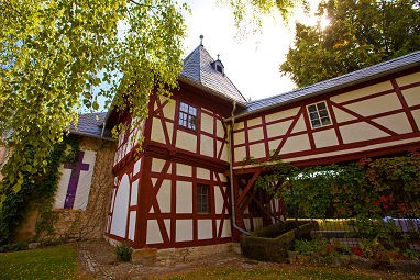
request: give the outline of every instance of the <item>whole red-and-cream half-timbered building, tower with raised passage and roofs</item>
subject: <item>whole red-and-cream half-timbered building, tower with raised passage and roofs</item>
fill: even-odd
[[[419,150],[420,52],[246,102],[200,44],[179,89],[148,110],[119,137],[106,236],[134,248],[225,244],[283,219],[281,201],[251,191],[273,155],[313,166]]]

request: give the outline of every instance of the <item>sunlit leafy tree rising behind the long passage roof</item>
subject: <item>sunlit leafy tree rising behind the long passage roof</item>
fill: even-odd
[[[305,87],[418,51],[419,8],[418,0],[323,1],[318,25],[297,23],[280,71]]]

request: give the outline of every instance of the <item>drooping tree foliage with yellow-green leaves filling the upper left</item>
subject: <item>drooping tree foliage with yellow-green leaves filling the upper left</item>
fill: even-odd
[[[0,209],[10,189],[45,173],[82,103],[97,110],[99,96],[109,103],[119,89],[113,107],[130,104],[142,119],[153,89],[177,86],[185,9],[175,0],[0,1],[0,138],[13,150]]]

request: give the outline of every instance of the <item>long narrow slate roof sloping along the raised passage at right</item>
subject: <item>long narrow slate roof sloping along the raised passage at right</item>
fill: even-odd
[[[344,87],[401,71],[416,65],[420,65],[420,51],[279,96],[248,102],[247,108],[241,111],[239,115],[246,115],[306,98],[331,92]]]

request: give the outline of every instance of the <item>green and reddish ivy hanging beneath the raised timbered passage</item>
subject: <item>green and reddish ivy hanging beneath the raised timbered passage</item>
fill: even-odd
[[[420,156],[296,168],[277,161],[254,188],[297,205],[300,217],[420,215]]]

